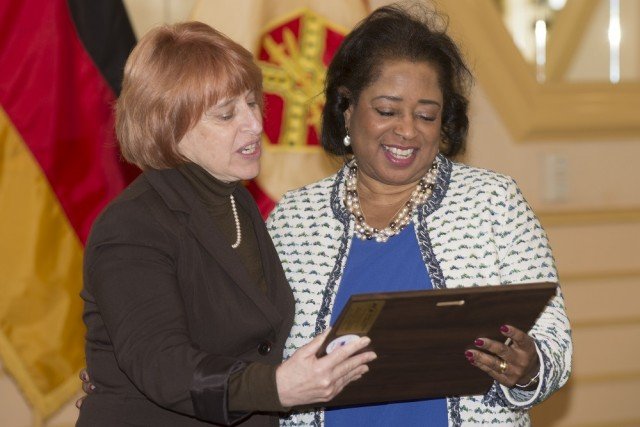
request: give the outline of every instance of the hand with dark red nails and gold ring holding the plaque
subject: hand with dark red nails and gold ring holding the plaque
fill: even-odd
[[[528,384],[540,369],[533,338],[510,325],[501,326],[500,333],[511,339],[509,345],[478,338],[474,345],[484,351],[467,350],[467,360],[506,387]]]

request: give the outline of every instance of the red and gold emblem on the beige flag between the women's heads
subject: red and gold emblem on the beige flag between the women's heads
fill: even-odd
[[[265,30],[258,63],[269,149],[318,148],[326,68],[345,32],[309,9]]]

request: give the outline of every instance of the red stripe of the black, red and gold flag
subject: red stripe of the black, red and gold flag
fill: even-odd
[[[65,0],[0,5],[0,105],[47,176],[80,240],[126,185],[115,96],[88,56]]]

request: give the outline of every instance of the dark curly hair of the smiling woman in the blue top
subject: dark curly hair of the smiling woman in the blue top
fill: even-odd
[[[439,77],[444,105],[440,152],[453,157],[464,150],[469,118],[467,93],[473,81],[460,49],[446,34],[447,18],[418,4],[376,9],[347,35],[325,81],[322,146],[335,155],[352,154],[343,113],[380,75],[385,61],[427,62]]]

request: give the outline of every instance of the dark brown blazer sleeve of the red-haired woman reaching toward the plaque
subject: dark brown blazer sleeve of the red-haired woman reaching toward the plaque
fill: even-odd
[[[95,298],[118,366],[164,408],[235,423],[249,414],[228,411],[228,378],[246,364],[207,354],[191,341],[176,276],[175,236],[138,211],[105,214],[85,252],[85,287]]]

